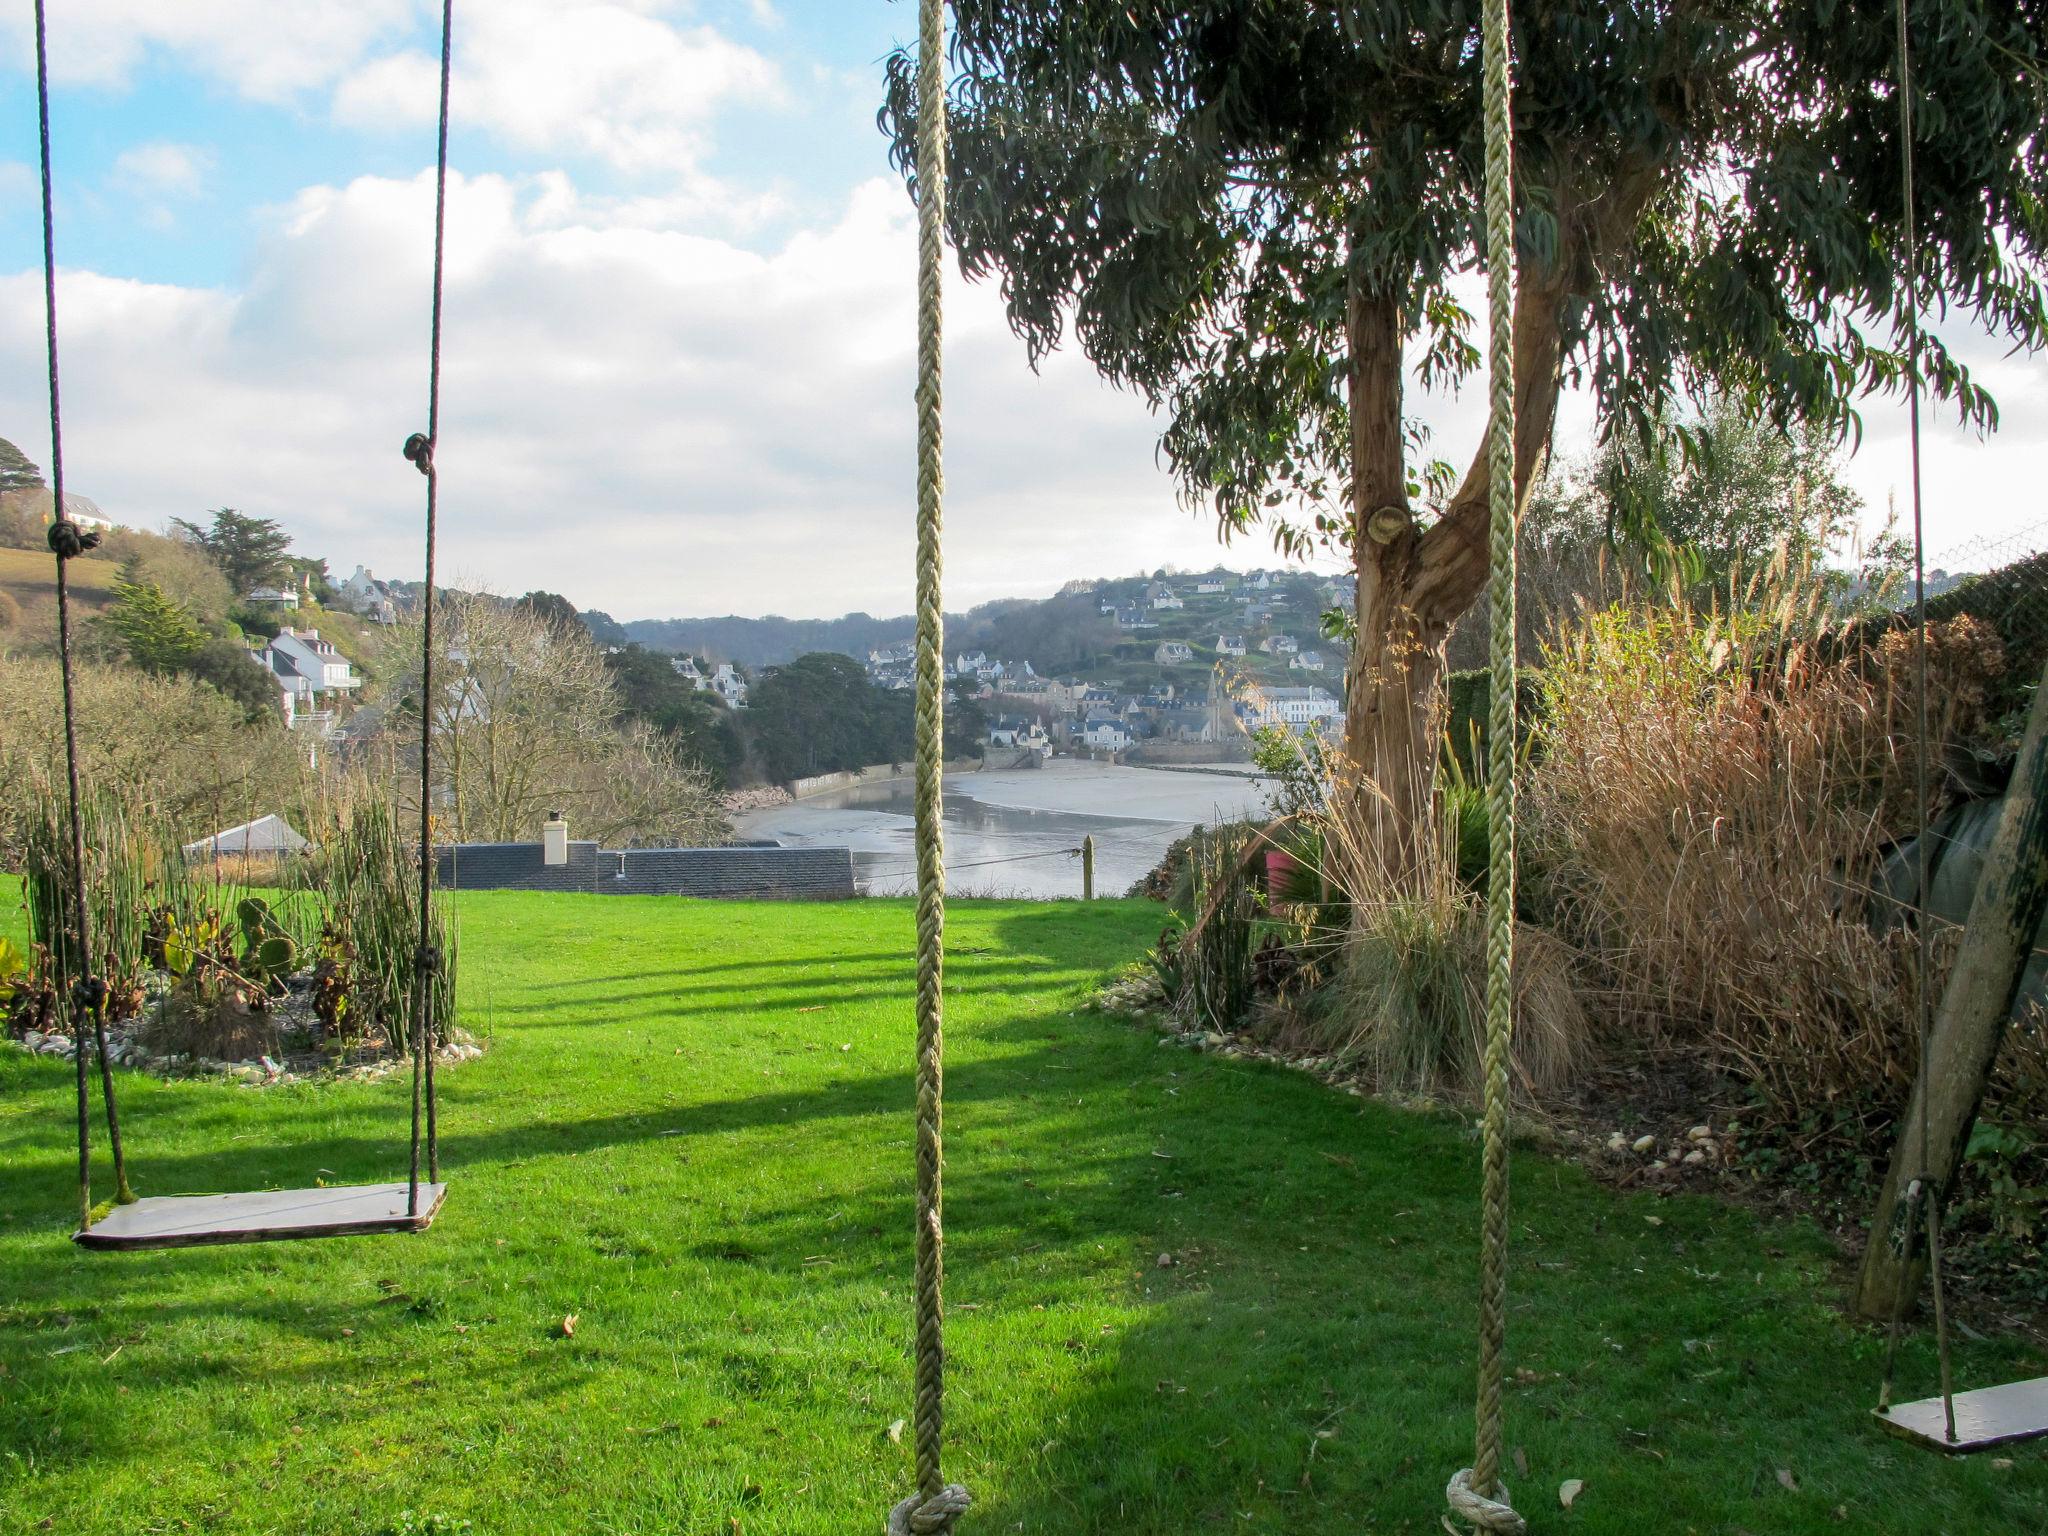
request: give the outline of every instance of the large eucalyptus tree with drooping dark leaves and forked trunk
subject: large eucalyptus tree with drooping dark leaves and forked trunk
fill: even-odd
[[[1516,8],[1516,475],[1561,389],[1630,442],[1714,389],[1851,430],[1907,373],[1894,10],[1884,0]],[[1911,0],[1921,375],[2048,336],[2048,0]],[[1032,360],[1069,336],[1163,418],[1225,537],[1358,569],[1346,745],[1421,803],[1450,625],[1487,571],[1487,461],[1423,461],[1409,381],[1479,365],[1475,0],[954,0],[950,233]],[[913,61],[887,66],[905,176]],[[915,190],[915,186],[913,186]]]

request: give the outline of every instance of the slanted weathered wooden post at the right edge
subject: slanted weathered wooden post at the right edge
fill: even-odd
[[[1913,1098],[1898,1122],[1892,1165],[1870,1219],[1870,1247],[1855,1282],[1855,1309],[1888,1319],[1901,1298],[1919,1294],[1923,1262],[1892,1251],[1898,1200],[1915,1180],[1927,1180],[1946,1198],[1970,1139],[1970,1124],[1999,1059],[1999,1042],[2013,1012],[2048,911],[2048,668],[2042,670],[2028,733],[2005,791],[1999,829],[1985,850],[1985,866],[1970,899],[1970,920],[1956,954],[1956,971],[1942,995],[1927,1047],[1927,1075],[1913,1083]],[[1925,1110],[1923,1110],[1925,1104]],[[1925,1112],[1927,1139],[1921,1143]]]

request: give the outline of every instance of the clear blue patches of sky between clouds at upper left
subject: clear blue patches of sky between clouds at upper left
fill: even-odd
[[[168,0],[186,4],[188,0]],[[477,0],[471,0],[471,6]],[[489,0],[483,0],[489,4]],[[53,10],[61,10],[57,4]],[[412,25],[379,33],[385,49],[438,49],[438,12],[414,8]],[[457,4],[457,39],[465,6]],[[752,244],[784,236],[793,223],[829,217],[846,188],[889,170],[874,129],[881,61],[913,31],[907,4],[840,0],[707,2],[676,14],[772,57],[788,88],[774,102],[735,102],[717,119],[700,158],[705,172],[788,199],[782,217],[741,231]],[[903,23],[911,23],[905,27]],[[61,33],[53,47],[61,47]],[[27,33],[20,33],[27,45]],[[0,182],[0,270],[41,262],[35,223],[37,160],[33,55],[14,49],[0,72],[0,160],[18,170]],[[375,129],[340,125],[317,94],[254,100],[225,66],[197,63],[190,51],[141,43],[117,76],[66,84],[53,63],[53,164],[59,260],[113,276],[223,287],[246,274],[258,213],[287,203],[309,182],[354,176],[410,176],[432,158],[428,125]],[[172,223],[137,219],[137,182],[123,156],[176,143],[203,152],[201,182],[178,199]],[[449,154],[465,172],[520,174],[539,160],[485,127],[457,127]],[[590,152],[545,156],[592,193],[631,195],[664,184],[659,166],[621,168]]]

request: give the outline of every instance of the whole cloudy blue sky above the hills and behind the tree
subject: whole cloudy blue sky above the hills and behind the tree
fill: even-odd
[[[51,12],[72,485],[414,573],[438,6]],[[0,436],[45,461],[27,14],[0,12]],[[911,29],[903,0],[459,0],[451,573],[618,616],[909,608],[913,244],[874,106]],[[948,283],[946,334],[952,604],[1272,561],[1178,502],[1141,401],[1071,354],[1032,373],[989,285]],[[2042,541],[2040,360],[1972,362],[2005,430],[1929,434],[1937,553]],[[1477,442],[1477,391],[1411,406]],[[1587,432],[1569,399],[1559,451]],[[1880,408],[1849,479],[1882,510],[1903,467]]]

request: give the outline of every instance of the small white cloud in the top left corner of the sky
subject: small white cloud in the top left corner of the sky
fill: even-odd
[[[49,6],[49,70],[59,84],[125,86],[150,55],[172,55],[242,96],[283,102],[332,84],[420,14],[420,0],[61,0]],[[0,37],[33,68],[29,6],[8,6]]]

